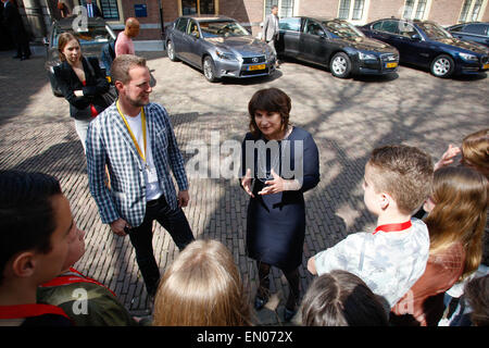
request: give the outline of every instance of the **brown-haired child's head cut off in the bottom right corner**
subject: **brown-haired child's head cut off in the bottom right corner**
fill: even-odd
[[[489,326],[489,274],[465,284],[464,296],[472,308],[472,323]]]

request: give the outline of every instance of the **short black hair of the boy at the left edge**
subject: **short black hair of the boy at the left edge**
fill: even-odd
[[[16,253],[51,251],[55,229],[51,199],[62,195],[51,175],[0,171],[0,284],[7,262]]]

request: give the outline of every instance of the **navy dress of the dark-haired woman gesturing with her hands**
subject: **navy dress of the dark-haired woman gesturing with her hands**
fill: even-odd
[[[246,146],[247,140],[248,148]],[[280,160],[272,154],[273,151],[267,151],[265,158],[262,154],[262,162],[259,163],[258,147],[251,149],[250,146],[256,144],[256,140],[268,145],[268,141],[264,138],[254,139],[251,133],[246,135],[242,142],[242,175],[246,174],[248,167],[251,169],[250,161],[254,164],[252,169],[254,198],[250,198],[247,215],[247,254],[256,261],[275,265],[284,271],[291,271],[302,263],[305,236],[303,194],[315,187],[319,182],[317,147],[310,133],[293,127],[287,139],[277,141]],[[297,141],[300,144],[296,145]],[[289,152],[287,152],[287,147]],[[301,151],[301,148],[303,151]],[[286,153],[290,153],[290,161],[284,164],[284,161],[288,161],[286,160],[288,158],[288,156],[285,156]],[[247,159],[248,162],[246,162]],[[263,159],[265,160],[263,161]],[[265,162],[266,166],[263,166]],[[301,171],[300,167],[296,166],[296,163],[302,163],[303,170]],[[265,196],[258,195],[265,186],[266,177],[271,176],[271,167],[275,167],[275,172],[283,178],[294,178],[301,182],[301,189]],[[296,169],[298,171],[294,171]],[[301,172],[302,175],[300,175]]]

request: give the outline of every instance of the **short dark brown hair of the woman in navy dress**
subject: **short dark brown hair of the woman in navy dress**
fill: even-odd
[[[292,103],[290,97],[281,89],[265,88],[256,91],[248,103],[248,112],[250,113],[250,132],[254,138],[259,138],[261,132],[254,121],[258,110],[266,112],[278,112],[281,116],[281,129],[285,130],[289,126],[289,115]]]

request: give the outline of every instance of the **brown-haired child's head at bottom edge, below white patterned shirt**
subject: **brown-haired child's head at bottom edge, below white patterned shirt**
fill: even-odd
[[[387,326],[379,299],[356,275],[333,271],[315,278],[301,304],[305,326]]]

